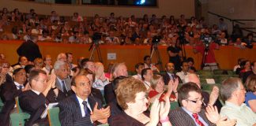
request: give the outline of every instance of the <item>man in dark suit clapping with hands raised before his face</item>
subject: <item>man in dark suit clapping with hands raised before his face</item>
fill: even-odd
[[[47,73],[40,69],[29,73],[28,82],[31,90],[24,91],[19,96],[21,109],[31,115],[25,125],[48,124],[47,117],[40,118],[47,104],[65,98],[65,95],[55,87],[55,79],[55,76],[51,76],[51,79],[47,81]]]

